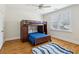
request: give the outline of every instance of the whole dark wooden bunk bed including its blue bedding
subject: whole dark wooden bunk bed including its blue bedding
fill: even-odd
[[[28,33],[28,27],[31,25],[37,26],[36,33],[31,33],[31,34]],[[36,38],[38,34],[40,34],[39,38]],[[32,38],[34,39],[34,40],[32,39],[33,43],[29,38],[29,36],[31,35],[32,35]],[[20,23],[20,39],[22,42],[31,41],[33,45],[38,45],[41,43],[51,41],[51,37],[47,35],[47,22],[40,22],[40,21],[34,21],[34,20],[22,20]]]

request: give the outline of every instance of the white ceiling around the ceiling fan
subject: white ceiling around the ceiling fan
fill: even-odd
[[[38,7],[40,4],[32,4],[32,5]],[[49,12],[53,12],[53,11],[56,11],[58,9],[70,6],[71,4],[45,4],[45,6],[46,5],[51,6],[51,7],[39,9],[41,14],[46,14],[46,13],[49,13]]]

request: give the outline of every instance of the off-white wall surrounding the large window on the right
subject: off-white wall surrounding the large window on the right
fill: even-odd
[[[49,22],[51,21],[50,15],[53,16],[54,13],[58,14],[60,11],[65,12],[66,10],[71,10],[72,32],[51,30],[51,22]],[[48,22],[48,33],[50,35],[58,37],[62,40],[79,44],[79,5],[73,5],[71,7],[63,8],[61,10],[45,14],[44,19]]]

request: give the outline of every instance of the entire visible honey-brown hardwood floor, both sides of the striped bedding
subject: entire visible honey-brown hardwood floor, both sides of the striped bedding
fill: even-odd
[[[62,41],[57,38],[52,38],[52,42],[59,44],[60,46],[73,51],[74,53],[79,53],[79,45]],[[46,43],[45,43],[46,44]],[[29,42],[22,43],[19,39],[6,41],[1,49],[1,54],[31,54],[32,46]]]

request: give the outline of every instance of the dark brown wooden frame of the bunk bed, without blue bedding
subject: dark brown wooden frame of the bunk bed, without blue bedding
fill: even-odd
[[[33,20],[22,20],[20,23],[20,39],[22,42],[28,41],[28,26],[29,25],[35,25],[37,26],[37,31],[40,33],[47,34],[47,22],[40,22],[40,21],[33,21]],[[41,43],[45,43],[51,41],[50,36],[46,36],[43,38],[38,38],[35,40],[34,45],[38,45]]]

